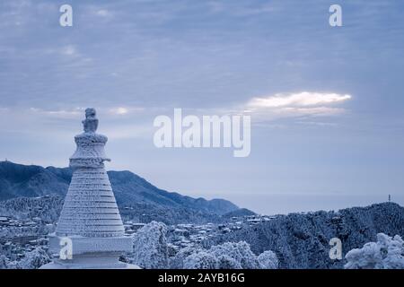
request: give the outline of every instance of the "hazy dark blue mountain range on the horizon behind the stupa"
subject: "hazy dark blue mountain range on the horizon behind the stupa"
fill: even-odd
[[[162,190],[130,171],[109,171],[108,174],[122,213],[136,213],[136,209],[137,212],[140,209],[166,214],[169,209],[171,213],[179,211],[177,216],[180,219],[180,215],[185,214],[190,217],[196,214],[202,217],[209,214],[220,216],[239,210],[237,205],[224,199],[206,200]],[[0,200],[22,196],[63,197],[71,178],[72,170],[69,168],[43,168],[0,161]]]

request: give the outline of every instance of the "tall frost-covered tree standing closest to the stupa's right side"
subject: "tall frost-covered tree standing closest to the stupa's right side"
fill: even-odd
[[[145,269],[168,268],[167,227],[162,222],[150,222],[133,238],[132,263]]]

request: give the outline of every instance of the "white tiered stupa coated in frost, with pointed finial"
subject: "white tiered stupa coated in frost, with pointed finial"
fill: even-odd
[[[77,150],[70,158],[73,177],[57,229],[49,239],[55,260],[41,268],[136,268],[119,261],[132,251],[132,239],[124,235],[110,179],[104,168],[104,145],[108,138],[96,134],[95,109],[85,110],[83,134],[75,136]],[[61,248],[71,248],[70,257],[58,257]],[[71,243],[71,244],[70,244]],[[62,251],[64,252],[64,251]]]

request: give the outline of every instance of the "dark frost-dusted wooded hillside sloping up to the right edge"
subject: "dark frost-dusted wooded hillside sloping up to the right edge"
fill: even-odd
[[[343,255],[376,234],[404,235],[404,207],[399,204],[373,204],[342,209],[338,212],[290,213],[277,215],[268,222],[246,226],[204,242],[206,247],[227,241],[245,240],[259,254],[273,250],[280,268],[341,268],[344,260],[329,259],[329,239],[342,241]]]

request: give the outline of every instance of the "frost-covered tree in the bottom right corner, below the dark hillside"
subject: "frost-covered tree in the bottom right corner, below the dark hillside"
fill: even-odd
[[[377,242],[352,249],[345,258],[346,269],[404,269],[404,241],[399,235],[378,233]]]

